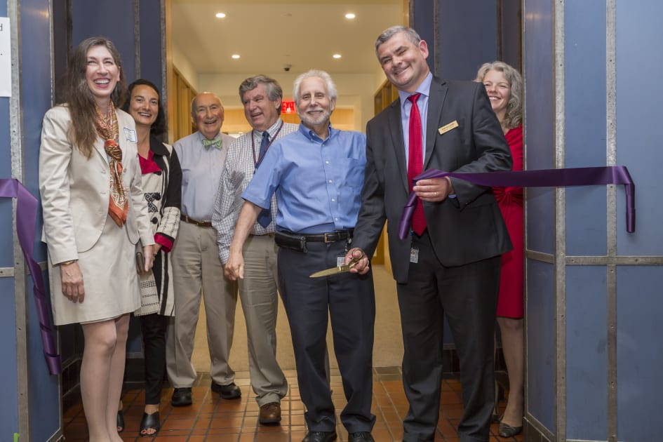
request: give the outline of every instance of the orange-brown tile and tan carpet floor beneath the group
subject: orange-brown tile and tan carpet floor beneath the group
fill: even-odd
[[[373,437],[376,442],[400,441],[403,436],[402,419],[408,411],[408,401],[401,380],[400,316],[396,300],[396,283],[382,265],[373,267],[375,282],[375,344],[373,346],[373,414],[376,416]],[[238,401],[225,401],[210,391],[210,359],[207,351],[206,319],[204,309],[196,328],[196,343],[192,361],[199,372],[194,385],[191,407],[173,408],[170,396],[173,389],[164,384],[161,396],[161,431],[156,438],[141,438],[138,427],[143,413],[144,392],[130,389],[123,392],[126,431],[124,441],[165,442],[300,442],[306,433],[304,406],[299,396],[297,375],[290,340],[290,329],[283,305],[279,302],[279,321],[276,326],[279,342],[278,359],[288,380],[288,396],[281,401],[283,420],[280,425],[264,427],[257,424],[258,406],[250,389],[246,325],[238,302],[235,317],[235,336],[230,354],[230,364],[236,370],[235,383],[242,390]],[[328,348],[333,348],[330,333]],[[333,351],[330,352],[331,388],[337,412],[339,441],[347,441],[347,431],[338,417],[345,398]],[[462,415],[460,383],[455,377],[443,381],[441,416],[436,441],[458,441],[456,427]],[[500,403],[504,408],[505,403]],[[81,403],[65,410],[64,429],[67,442],[86,441],[87,429]],[[500,438],[497,424],[491,426],[491,442],[514,441],[522,438]],[[519,436],[521,437],[521,436]]]

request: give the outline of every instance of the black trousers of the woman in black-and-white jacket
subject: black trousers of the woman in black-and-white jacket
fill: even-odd
[[[166,374],[166,328],[168,316],[157,313],[138,316],[145,356],[145,404],[158,405]]]

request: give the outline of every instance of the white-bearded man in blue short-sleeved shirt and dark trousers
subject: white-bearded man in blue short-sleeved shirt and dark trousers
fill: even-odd
[[[336,130],[330,116],[336,87],[329,74],[297,77],[293,95],[302,123],[276,140],[242,194],[226,270],[243,278],[242,246],[257,216],[276,193],[279,289],[293,336],[297,382],[306,406],[308,434],[302,442],[335,441],[336,418],[326,379],[328,313],[347,406],[341,421],[348,441],[373,441],[373,276],[309,275],[336,267],[350,248],[366,166],[366,136]]]

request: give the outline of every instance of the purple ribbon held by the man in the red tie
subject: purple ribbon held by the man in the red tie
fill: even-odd
[[[565,187],[620,184],[624,185],[627,203],[627,232],[636,231],[636,186],[629,170],[624,166],[579,167],[568,169],[518,170],[516,172],[453,173],[442,170],[426,170],[413,178],[413,183],[429,178],[452,177],[489,187]],[[410,193],[399,221],[399,237],[406,239],[410,233],[412,214],[417,205],[417,195]]]

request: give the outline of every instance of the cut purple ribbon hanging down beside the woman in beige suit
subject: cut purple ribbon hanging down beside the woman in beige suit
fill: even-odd
[[[11,178],[0,179],[0,197],[16,199],[16,233],[32,277],[32,293],[34,293],[34,303],[39,316],[43,357],[46,358],[48,373],[59,375],[62,373],[62,362],[58,354],[58,347],[55,344],[55,327],[51,320],[51,308],[48,307],[48,301],[46,300],[41,267],[32,257],[38,203],[36,198],[18,180]]]

